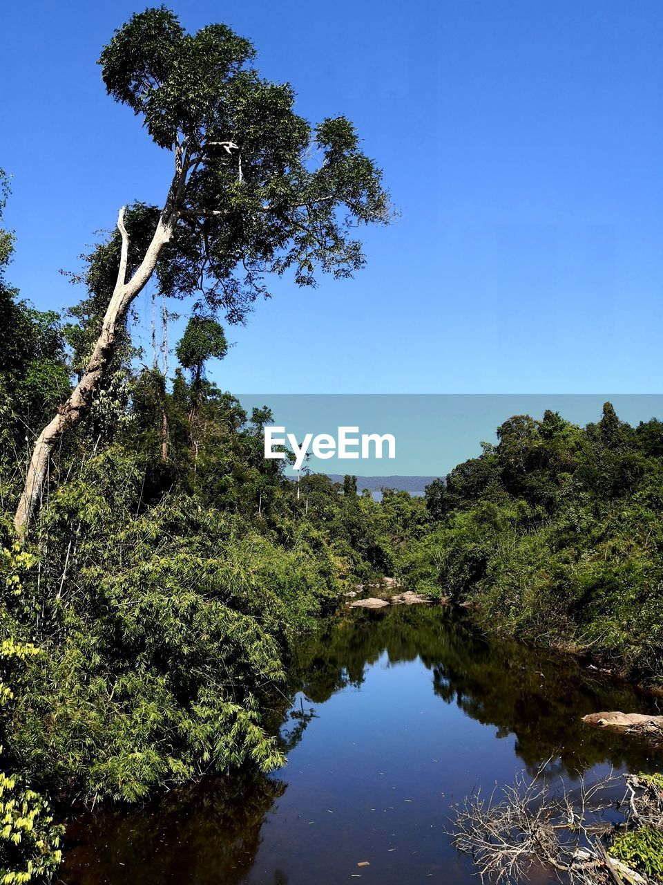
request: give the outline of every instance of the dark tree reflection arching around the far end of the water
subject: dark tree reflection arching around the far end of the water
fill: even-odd
[[[644,747],[580,721],[598,710],[657,712],[646,697],[592,675],[570,656],[488,639],[451,608],[394,607],[331,621],[299,650],[293,686],[322,703],[347,684],[361,684],[384,650],[392,664],[421,658],[435,694],[496,726],[498,737],[515,735],[516,752],[530,769],[558,756],[557,766],[571,775],[601,762],[646,766]]]

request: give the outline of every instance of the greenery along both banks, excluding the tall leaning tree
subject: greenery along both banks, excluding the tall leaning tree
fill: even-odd
[[[293,643],[344,589],[379,574],[476,604],[492,630],[659,678],[659,421],[629,427],[610,404],[584,428],[552,412],[516,416],[425,501],[387,490],[377,504],[352,477],[304,472],[294,484],[263,458],[271,412],[248,415],[208,380],[227,342],[204,314],[171,378],[156,359],[140,366],[126,328],[88,419],[52,458],[38,521],[15,543],[25,439],[88,346],[106,246],[88,257],[88,296],[66,325],[0,286],[4,881],[57,866],[51,804],[61,814],[72,801],[135,801],[203,773],[280,765],[287,746],[270,711]],[[459,670],[471,680],[471,664]]]

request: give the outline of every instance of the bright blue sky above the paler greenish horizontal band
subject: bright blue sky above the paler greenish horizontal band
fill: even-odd
[[[312,121],[346,113],[400,219],[369,266],[258,304],[211,375],[255,392],[659,392],[663,4],[209,0]],[[5,4],[9,279],[41,308],[171,158],[105,95],[99,51],[140,3]],[[148,321],[141,296],[139,316]],[[173,332],[173,336],[176,333]],[[644,416],[647,417],[647,416]]]

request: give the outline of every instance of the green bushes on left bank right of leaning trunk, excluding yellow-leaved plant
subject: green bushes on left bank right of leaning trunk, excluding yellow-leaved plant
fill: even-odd
[[[297,489],[263,458],[269,410],[249,418],[200,374],[176,373],[167,391],[156,370],[125,370],[118,398],[100,396],[54,459],[67,478],[51,483],[27,548],[4,531],[20,589],[4,597],[4,635],[38,652],[4,662],[4,740],[61,799],[135,800],[208,771],[278,766],[260,711],[289,642],[349,581],[391,569],[393,527],[423,512],[324,476]],[[7,409],[22,426],[19,402]],[[4,474],[8,489],[18,473]]]

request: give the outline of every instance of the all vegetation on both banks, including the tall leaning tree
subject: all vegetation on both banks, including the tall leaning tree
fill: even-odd
[[[295,485],[263,458],[269,404],[248,414],[209,380],[270,274],[346,277],[364,261],[352,228],[390,215],[353,125],[310,127],[254,55],[225,26],[187,35],[163,7],[103,50],[108,92],[174,171],[164,207],[127,206],[72,274],[78,304],[34,309],[0,231],[7,885],[55,870],[72,804],[280,766],[265,716],[293,643],[380,575],[473,604],[486,628],[661,680],[658,420],[629,427],[610,404],[588,427],[516,416],[425,497],[377,503],[350,476]],[[132,340],[143,289],[193,304],[171,375],[160,345]]]

